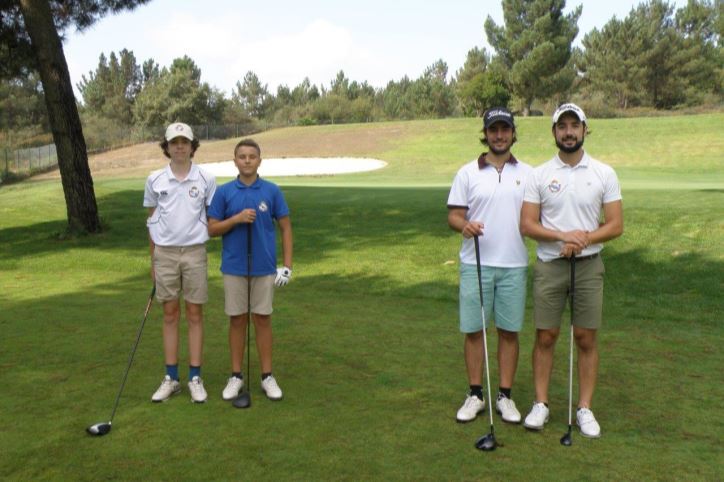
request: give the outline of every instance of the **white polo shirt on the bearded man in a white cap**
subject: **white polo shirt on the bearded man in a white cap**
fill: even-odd
[[[528,177],[525,202],[540,205],[543,227],[556,231],[595,231],[604,204],[621,200],[621,187],[610,166],[585,152],[571,167],[556,155]],[[536,254],[543,261],[560,257],[562,241],[539,241]],[[588,246],[580,256],[596,254],[603,244]]]

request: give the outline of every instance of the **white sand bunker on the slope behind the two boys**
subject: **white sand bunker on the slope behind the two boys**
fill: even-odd
[[[234,177],[239,171],[234,161],[199,164],[218,177]],[[325,174],[348,174],[382,169],[387,163],[378,159],[357,157],[285,157],[262,159],[259,175],[271,176],[315,176]]]

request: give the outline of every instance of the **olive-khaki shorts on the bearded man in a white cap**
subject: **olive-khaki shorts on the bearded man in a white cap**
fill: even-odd
[[[601,256],[576,260],[573,325],[596,330],[601,327],[603,274]],[[571,284],[570,262],[554,259],[535,263],[533,275],[533,320],[538,329],[560,328]]]

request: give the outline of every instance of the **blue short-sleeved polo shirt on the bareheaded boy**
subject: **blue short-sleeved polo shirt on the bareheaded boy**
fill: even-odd
[[[237,224],[222,236],[221,272],[235,276],[266,276],[277,270],[274,220],[289,216],[289,207],[279,186],[257,177],[247,186],[239,178],[216,190],[208,217],[223,221],[253,208],[251,224]],[[248,229],[251,226],[251,273],[247,266]]]

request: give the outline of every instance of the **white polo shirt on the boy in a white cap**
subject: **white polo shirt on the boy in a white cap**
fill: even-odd
[[[146,180],[143,206],[155,207],[146,220],[148,232],[158,246],[192,246],[209,239],[206,207],[216,192],[216,178],[191,164],[186,179],[179,181],[171,165],[154,171]]]

